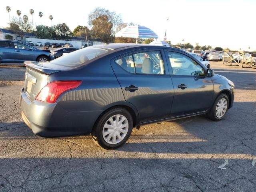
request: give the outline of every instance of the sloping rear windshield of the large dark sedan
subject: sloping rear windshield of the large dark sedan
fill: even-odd
[[[86,47],[56,58],[50,63],[66,67],[78,67],[106,53],[108,53],[108,50],[102,48]]]

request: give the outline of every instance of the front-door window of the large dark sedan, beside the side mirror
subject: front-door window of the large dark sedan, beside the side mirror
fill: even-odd
[[[174,75],[204,76],[203,68],[188,56],[168,51],[168,57]]]

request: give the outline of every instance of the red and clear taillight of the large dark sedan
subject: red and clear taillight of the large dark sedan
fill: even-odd
[[[47,84],[36,96],[36,100],[54,103],[65,91],[77,88],[82,81],[53,81]]]

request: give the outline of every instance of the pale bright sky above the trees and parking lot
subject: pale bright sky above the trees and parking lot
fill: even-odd
[[[88,25],[88,14],[96,7],[115,11],[124,22],[140,24],[153,30],[159,40],[164,38],[172,44],[190,42],[195,46],[211,45],[232,50],[256,50],[256,0],[8,0],[1,2],[0,27],[8,26],[6,6],[11,7],[10,16],[28,15],[34,9],[34,24],[40,24],[38,12],[43,12],[42,24],[65,22],[70,30],[78,25]],[[166,18],[169,18],[167,21]],[[184,41],[182,41],[184,39]]]

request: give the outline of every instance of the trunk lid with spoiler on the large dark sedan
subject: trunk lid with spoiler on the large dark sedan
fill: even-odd
[[[30,101],[34,101],[37,94],[48,84],[50,74],[69,70],[70,68],[57,66],[49,62],[25,61],[26,73],[24,82],[24,91]]]

